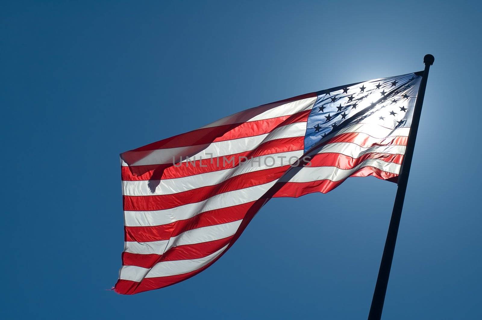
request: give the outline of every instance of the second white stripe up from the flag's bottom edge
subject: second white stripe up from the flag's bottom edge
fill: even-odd
[[[187,230],[169,240],[135,242],[127,241],[125,243],[125,252],[141,254],[141,255],[162,255],[167,250],[178,245],[196,244],[224,239],[232,236],[238,230],[241,220],[216,224],[214,226],[202,227],[193,230]]]

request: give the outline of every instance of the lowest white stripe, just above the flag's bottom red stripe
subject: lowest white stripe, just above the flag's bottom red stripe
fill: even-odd
[[[219,249],[209,256],[199,259],[176,260],[176,261],[162,261],[154,265],[151,269],[137,267],[137,266],[123,266],[120,269],[119,279],[131,280],[141,282],[144,278],[168,277],[177,274],[183,274],[197,269],[201,269],[209,262],[213,261],[219,256],[228,245]]]

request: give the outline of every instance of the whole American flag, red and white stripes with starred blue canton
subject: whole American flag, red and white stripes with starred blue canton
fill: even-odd
[[[264,104],[120,154],[125,246],[114,290],[208,268],[273,197],[348,177],[397,182],[421,73]]]

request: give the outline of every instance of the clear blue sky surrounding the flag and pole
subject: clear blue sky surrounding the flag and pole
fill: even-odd
[[[119,154],[435,56],[385,319],[482,319],[476,1],[12,1],[0,10],[7,319],[366,319],[396,185],[274,199],[211,268],[134,296]]]

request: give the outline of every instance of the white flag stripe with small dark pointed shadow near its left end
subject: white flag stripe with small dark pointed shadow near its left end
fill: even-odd
[[[239,176],[244,173],[274,168],[279,166],[286,166],[295,162],[296,159],[303,155],[303,150],[282,152],[278,154],[268,154],[255,157],[243,162],[239,166],[228,168],[224,170],[200,173],[193,176],[162,179],[162,180],[140,180],[140,181],[122,181],[122,191],[124,195],[129,196],[146,196],[146,195],[160,195],[173,194],[178,192],[185,192],[192,189],[197,189],[205,186],[212,186],[221,183],[229,178]],[[236,159],[238,160],[238,159]],[[241,159],[242,160],[242,159]],[[227,159],[231,161],[232,159]],[[220,166],[223,162],[220,161]],[[150,188],[155,189],[154,192]]]

